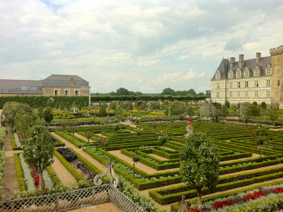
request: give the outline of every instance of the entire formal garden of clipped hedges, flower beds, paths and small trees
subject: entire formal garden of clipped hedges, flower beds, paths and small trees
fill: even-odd
[[[139,102],[60,108],[6,103],[0,128],[0,210],[60,211],[63,204],[75,208],[113,201],[113,192],[120,201],[115,205],[128,201],[132,211],[283,207],[279,109]],[[228,116],[233,112],[237,117]],[[9,178],[16,183],[11,198],[11,190],[4,189],[9,185],[4,184],[5,139],[16,173]],[[113,172],[103,174],[110,166]]]

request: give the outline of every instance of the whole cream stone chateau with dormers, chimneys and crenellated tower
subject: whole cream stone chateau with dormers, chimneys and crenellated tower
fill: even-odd
[[[223,59],[211,81],[210,101],[224,104],[243,102],[265,102],[268,107],[283,109],[283,45],[270,49],[270,56],[244,60],[239,54]]]

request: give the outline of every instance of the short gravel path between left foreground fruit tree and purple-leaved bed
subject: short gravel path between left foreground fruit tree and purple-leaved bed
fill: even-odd
[[[60,181],[68,186],[75,182],[78,185],[77,180],[73,177],[73,175],[61,164],[61,162],[54,156],[54,163],[51,165],[55,174],[60,179]],[[71,166],[71,165],[70,165]]]

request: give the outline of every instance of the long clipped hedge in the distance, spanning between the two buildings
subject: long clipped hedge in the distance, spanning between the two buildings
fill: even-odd
[[[91,96],[91,101],[157,101],[159,99],[173,101],[190,101],[190,100],[204,100],[205,98],[210,98],[210,96],[171,96],[171,95],[143,95],[143,96]]]

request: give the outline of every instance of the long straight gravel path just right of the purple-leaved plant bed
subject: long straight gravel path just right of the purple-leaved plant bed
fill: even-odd
[[[64,138],[60,137],[59,135],[55,134],[55,132],[51,132],[52,135],[59,138],[62,142],[65,143],[65,147],[71,147],[73,150],[75,150],[77,153],[79,153],[81,156],[83,156],[85,159],[87,159],[89,162],[91,162],[94,166],[96,166],[98,169],[100,169],[102,172],[106,171],[107,167],[99,163],[97,160],[95,160],[93,157],[91,157],[89,154],[85,153],[83,149],[77,148],[75,145],[71,144],[69,141],[65,140]],[[120,151],[120,150],[119,150]],[[108,176],[110,176],[110,173],[108,173]]]

